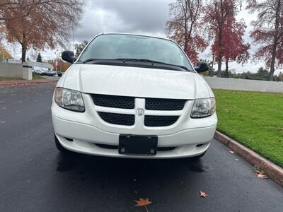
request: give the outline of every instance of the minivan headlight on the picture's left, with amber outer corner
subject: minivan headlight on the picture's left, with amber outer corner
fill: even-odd
[[[54,101],[60,107],[76,112],[84,112],[83,98],[81,92],[65,88],[56,88]]]

